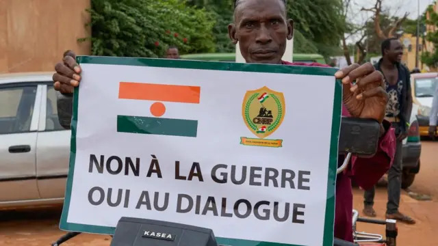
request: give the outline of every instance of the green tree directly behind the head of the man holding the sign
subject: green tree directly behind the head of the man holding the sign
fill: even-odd
[[[197,8],[205,8],[216,16],[214,37],[216,51],[234,52],[227,26],[233,21],[233,0],[188,0]],[[339,53],[339,40],[344,31],[344,20],[339,18],[342,0],[287,1],[287,15],[295,20],[294,52]]]

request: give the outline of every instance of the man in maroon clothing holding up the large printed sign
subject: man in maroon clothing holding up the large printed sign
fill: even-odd
[[[237,0],[234,23],[229,25],[231,40],[234,44],[240,45],[240,51],[247,63],[324,66],[288,63],[281,60],[285,52],[286,40],[292,39],[294,31],[293,21],[287,20],[285,7],[285,0]],[[55,90],[62,94],[72,94],[73,88],[81,81],[81,68],[75,61],[75,54],[69,51],[64,60],[56,64],[55,70],[56,73],[53,74]],[[352,241],[350,177],[354,176],[363,189],[369,189],[387,172],[394,158],[394,131],[389,122],[383,120],[387,94],[381,72],[374,70],[370,63],[362,66],[353,64],[336,72],[335,77],[342,79],[344,84],[343,115],[372,118],[381,122],[381,138],[376,155],[370,159],[353,158],[348,172],[337,176],[335,237]],[[355,80],[357,83],[352,85]],[[61,124],[65,128],[70,128],[71,109],[58,103],[57,111]],[[344,156],[339,156],[339,163],[342,163],[343,159]]]

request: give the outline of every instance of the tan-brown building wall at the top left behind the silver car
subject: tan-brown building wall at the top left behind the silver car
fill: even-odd
[[[51,71],[62,53],[90,54],[90,0],[0,0],[0,73]]]

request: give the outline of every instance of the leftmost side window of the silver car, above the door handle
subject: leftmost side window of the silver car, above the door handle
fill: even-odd
[[[30,130],[36,85],[0,88],[0,134]]]

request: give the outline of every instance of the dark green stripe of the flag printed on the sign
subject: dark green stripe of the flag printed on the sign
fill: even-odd
[[[198,121],[117,115],[117,132],[196,137]]]

